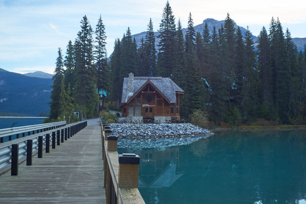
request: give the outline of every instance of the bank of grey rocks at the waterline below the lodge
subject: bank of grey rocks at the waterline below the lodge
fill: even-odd
[[[184,137],[208,136],[213,133],[207,129],[194,126],[190,123],[180,124],[110,124],[112,135],[119,138],[158,138],[158,137]]]

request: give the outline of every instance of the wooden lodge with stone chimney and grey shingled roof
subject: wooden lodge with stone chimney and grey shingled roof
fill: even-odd
[[[124,78],[121,105],[122,116],[129,122],[154,119],[165,122],[180,119],[180,98],[184,90],[170,78],[134,77]]]

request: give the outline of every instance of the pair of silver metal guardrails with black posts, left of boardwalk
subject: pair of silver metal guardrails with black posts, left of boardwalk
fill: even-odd
[[[55,149],[55,143],[60,145],[61,142],[63,143],[64,140],[74,136],[74,134],[87,126],[87,121],[85,121],[61,128],[66,125],[66,122],[63,122],[59,122],[58,124],[53,123],[51,126],[50,123],[49,126],[44,126],[44,124],[42,124],[41,126],[35,126],[34,128],[33,125],[31,125],[31,128],[27,128],[30,126],[24,126],[22,127],[22,130],[26,131],[41,130],[43,128],[52,128],[52,131],[46,131],[41,134],[39,134],[38,131],[37,134],[32,136],[21,137],[12,141],[1,143],[0,174],[11,169],[11,175],[18,175],[18,165],[20,163],[26,160],[27,166],[32,165],[33,155],[38,154],[38,158],[42,158],[44,149],[46,150],[46,153],[49,153],[50,146],[52,146],[52,149]],[[54,129],[55,127],[57,127],[57,129]],[[19,133],[16,131],[14,133],[19,134],[22,133],[22,131]]]

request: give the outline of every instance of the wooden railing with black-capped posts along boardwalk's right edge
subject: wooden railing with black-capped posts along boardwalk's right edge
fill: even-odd
[[[118,154],[118,136],[102,119],[100,124],[106,204],[145,204],[138,190],[139,156]]]

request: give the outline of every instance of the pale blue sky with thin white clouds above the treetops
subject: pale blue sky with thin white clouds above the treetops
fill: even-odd
[[[305,0],[169,0],[176,18],[187,27],[191,12],[194,25],[206,18],[222,20],[229,13],[254,35],[270,20],[279,17],[292,37],[306,37]],[[86,15],[93,29],[102,15],[106,27],[107,52],[113,51],[115,38],[127,27],[132,34],[146,31],[150,17],[154,31],[159,29],[166,0],[0,0],[0,68],[26,73],[53,73],[57,50],[63,52],[74,41],[80,21]]]

